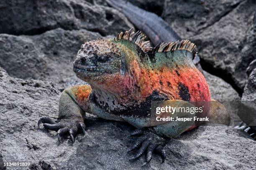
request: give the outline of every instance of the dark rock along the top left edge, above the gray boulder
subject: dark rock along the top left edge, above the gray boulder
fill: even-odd
[[[113,8],[92,0],[12,0],[0,2],[0,33],[35,35],[55,28],[118,34],[131,23]]]

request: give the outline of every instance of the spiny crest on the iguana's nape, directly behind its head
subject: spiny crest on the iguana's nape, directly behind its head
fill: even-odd
[[[146,36],[141,33],[141,31],[134,32],[133,28],[128,31],[120,32],[116,37],[118,40],[128,40],[134,42],[141,47],[141,50],[144,52],[150,51],[152,47],[149,47],[150,41],[144,41]]]

